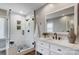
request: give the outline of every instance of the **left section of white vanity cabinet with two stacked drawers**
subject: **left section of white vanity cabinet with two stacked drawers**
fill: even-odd
[[[36,41],[36,51],[43,55],[49,55],[49,43],[43,41]]]

